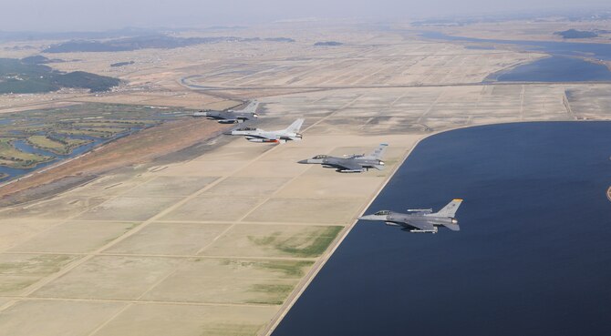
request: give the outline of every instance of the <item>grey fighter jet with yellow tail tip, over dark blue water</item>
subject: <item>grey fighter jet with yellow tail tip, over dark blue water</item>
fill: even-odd
[[[409,209],[408,213],[399,213],[388,210],[381,210],[373,215],[359,217],[362,220],[385,221],[387,225],[401,226],[403,230],[409,232],[430,232],[437,233],[440,226],[458,231],[458,219],[454,218],[456,210],[461,206],[462,199],[452,199],[447,206],[439,212],[432,212],[432,209]]]

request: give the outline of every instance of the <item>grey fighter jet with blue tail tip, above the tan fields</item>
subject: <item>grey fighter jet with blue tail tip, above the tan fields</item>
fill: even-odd
[[[344,158],[317,155],[314,158],[307,158],[298,162],[304,164],[319,164],[323,165],[325,168],[336,168],[336,171],[340,173],[360,173],[369,170],[369,168],[381,170],[384,168],[384,161],[382,161],[381,158],[387,147],[388,144],[380,144],[378,148],[368,155],[352,154]]]

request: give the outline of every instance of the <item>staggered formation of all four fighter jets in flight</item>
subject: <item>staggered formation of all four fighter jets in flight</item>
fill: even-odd
[[[251,101],[248,106],[241,110],[225,110],[225,111],[199,111],[193,113],[193,117],[208,117],[216,120],[221,124],[238,124],[256,120],[259,116],[256,114],[256,109],[259,102]],[[296,119],[289,127],[285,129],[266,131],[256,127],[237,127],[224,133],[230,136],[241,136],[251,142],[275,143],[282,144],[291,140],[301,140],[303,136],[299,133],[304,125],[304,119]],[[332,157],[324,154],[316,155],[313,158],[306,158],[298,161],[300,164],[318,164],[323,168],[335,168],[339,173],[362,173],[370,168],[381,170],[384,168],[384,155],[388,144],[380,144],[371,153],[365,154],[350,154],[344,157]],[[404,231],[418,233],[437,233],[438,228],[445,227],[452,231],[458,231],[461,228],[458,225],[458,219],[454,216],[456,211],[461,206],[462,199],[452,199],[448,205],[440,209],[438,212],[432,212],[432,209],[408,209],[407,213],[400,213],[390,210],[380,210],[371,215],[361,216],[360,220],[383,221],[390,226],[399,226]]]

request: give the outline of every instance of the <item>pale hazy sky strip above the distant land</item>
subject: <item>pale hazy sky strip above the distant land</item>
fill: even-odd
[[[0,30],[249,25],[303,17],[408,19],[609,6],[609,0],[0,0]]]

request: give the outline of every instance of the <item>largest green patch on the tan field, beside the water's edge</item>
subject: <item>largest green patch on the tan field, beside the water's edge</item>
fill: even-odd
[[[265,237],[249,236],[248,239],[258,246],[271,247],[295,257],[311,258],[321,255],[342,229],[340,226],[313,227],[293,235],[276,231]]]

